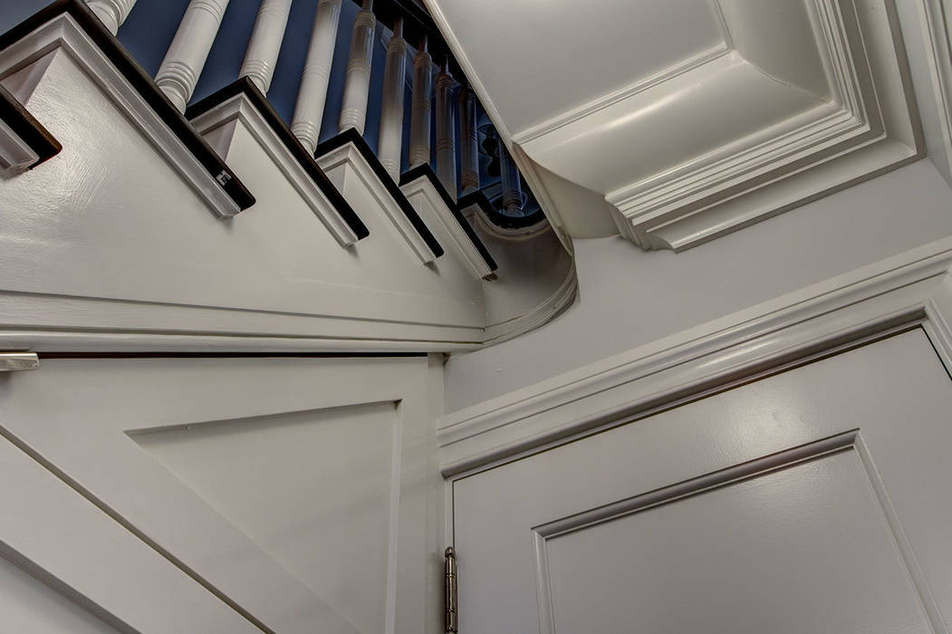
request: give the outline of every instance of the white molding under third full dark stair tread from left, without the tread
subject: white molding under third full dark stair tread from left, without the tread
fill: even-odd
[[[436,259],[436,255],[426,245],[426,241],[417,232],[403,210],[387,191],[387,186],[377,177],[367,159],[360,153],[353,143],[347,142],[327,154],[317,157],[317,164],[327,173],[337,188],[347,196],[344,185],[348,176],[356,176],[361,186],[373,196],[374,200],[384,209],[387,219],[407,243],[407,247],[420,259],[423,264],[429,264]]]

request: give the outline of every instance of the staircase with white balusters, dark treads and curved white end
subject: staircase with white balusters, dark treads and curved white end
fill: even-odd
[[[368,0],[348,25],[342,0],[317,3],[288,117],[268,89],[289,0],[261,3],[239,76],[199,100],[241,5],[190,2],[153,78],[115,34],[161,4],[59,0],[0,36],[0,347],[457,352],[573,301],[571,257],[486,150],[425,11]]]

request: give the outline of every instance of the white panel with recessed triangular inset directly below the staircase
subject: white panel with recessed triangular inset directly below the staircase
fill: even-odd
[[[0,419],[8,437],[272,631],[437,631],[427,624],[442,552],[431,368],[426,358],[45,360],[44,373],[0,385]],[[13,487],[12,475],[0,480]],[[0,538],[35,515],[8,518]],[[77,530],[68,542],[89,539]],[[65,552],[46,559],[63,565]],[[102,572],[129,592],[149,580],[148,569],[122,571]],[[250,628],[203,625],[200,604],[149,616],[176,599],[139,606],[136,629]]]

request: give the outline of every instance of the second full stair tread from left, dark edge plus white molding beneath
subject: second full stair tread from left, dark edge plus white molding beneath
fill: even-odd
[[[367,226],[248,77],[189,107],[186,116],[203,136],[240,121],[342,247],[369,235]],[[218,139],[221,145],[215,148],[226,160],[231,139],[231,134]]]

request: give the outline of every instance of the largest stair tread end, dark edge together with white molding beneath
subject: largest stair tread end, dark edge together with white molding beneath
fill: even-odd
[[[227,218],[254,204],[225,162],[79,0],[57,0],[0,35],[0,78],[12,88],[11,75],[29,72],[30,65],[42,64],[57,50],[87,72],[215,215]],[[30,77],[29,86],[10,91],[29,107],[30,94],[42,81]]]

